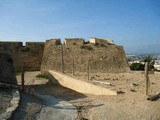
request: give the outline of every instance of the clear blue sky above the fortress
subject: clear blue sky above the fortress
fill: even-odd
[[[67,37],[160,52],[160,0],[0,0],[0,41]]]

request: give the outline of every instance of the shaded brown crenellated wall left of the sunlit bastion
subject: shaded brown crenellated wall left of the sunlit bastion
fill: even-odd
[[[40,70],[44,50],[44,42],[0,42],[0,53],[9,54],[16,70]]]

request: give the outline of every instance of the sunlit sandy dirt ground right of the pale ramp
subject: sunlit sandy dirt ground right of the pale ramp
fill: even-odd
[[[77,75],[79,78],[81,75]],[[160,92],[160,73],[150,74],[149,95]],[[83,78],[82,78],[83,79]],[[148,101],[145,95],[145,78],[141,72],[121,74],[92,74],[90,82],[121,91],[118,96],[95,96],[93,101],[103,104],[88,110],[90,120],[160,120],[160,100]],[[94,104],[94,103],[93,103]]]

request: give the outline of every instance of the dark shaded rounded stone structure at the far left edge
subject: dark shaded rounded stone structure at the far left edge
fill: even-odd
[[[4,53],[0,53],[0,82],[17,85],[13,60]]]

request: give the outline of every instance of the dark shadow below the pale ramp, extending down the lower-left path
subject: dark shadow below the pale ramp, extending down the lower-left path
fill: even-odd
[[[27,92],[27,93],[26,93]],[[48,98],[46,101],[37,97],[37,95],[52,96],[56,98],[54,101]],[[56,105],[60,102],[60,99],[69,101],[80,98],[85,98],[86,95],[77,93],[71,89],[52,84],[48,82],[47,84],[42,85],[26,85],[25,92],[21,92],[21,100],[19,107],[12,115],[12,120],[35,120],[37,115],[42,110],[42,107],[48,106],[49,102],[53,105]],[[60,109],[59,107],[55,109]],[[68,108],[66,108],[68,109]]]

